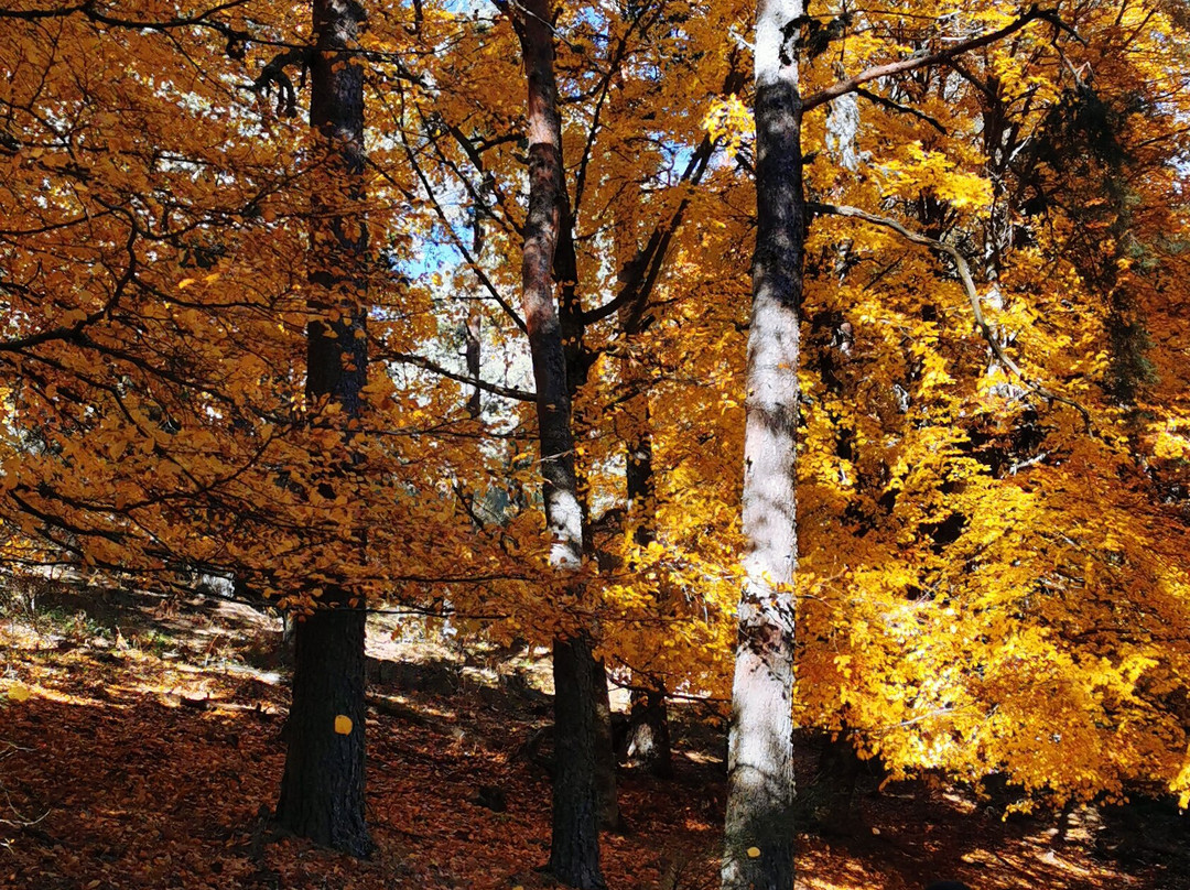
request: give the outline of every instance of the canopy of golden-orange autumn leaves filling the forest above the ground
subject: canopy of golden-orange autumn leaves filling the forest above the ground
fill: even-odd
[[[806,33],[807,93],[1016,8],[828,12],[833,42]],[[350,443],[311,425],[303,396],[309,196],[349,199],[283,113],[284,82],[263,79],[305,45],[305,13],[261,0],[213,14],[252,36],[233,54],[203,23],[75,13],[0,30],[6,556],[224,566],[298,609],[344,583],[482,616],[466,629],[497,639],[594,618],[613,665],[721,696],[754,223],[750,7],[590,2],[556,23],[577,259],[559,289],[594,313],[576,439],[602,551],[569,589],[544,571],[532,403],[486,393],[471,416],[466,383],[427,370],[465,381],[451,352],[478,313],[483,377],[531,386],[511,311],[515,36],[453,2],[368,13],[374,366]],[[895,772],[1001,771],[1057,797],[1190,792],[1188,23],[1176,0],[1064,0],[1056,15],[869,84],[853,132],[828,126],[840,102],[807,118],[809,198],[962,250],[1001,343],[1091,424],[990,359],[945,262],[815,219],[797,715]],[[640,312],[599,313],[649,271],[633,261],[653,239],[664,263]],[[630,507],[625,449],[644,435],[653,495]],[[351,472],[324,497],[336,455]]]

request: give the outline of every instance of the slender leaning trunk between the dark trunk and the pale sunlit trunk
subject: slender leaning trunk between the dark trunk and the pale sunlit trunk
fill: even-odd
[[[550,563],[574,571],[582,563],[583,512],[575,475],[566,353],[553,300],[552,267],[564,212],[562,118],[553,73],[547,0],[507,7],[521,43],[528,81],[528,212],[521,264],[521,301],[537,388],[545,520]],[[553,836],[550,870],[571,886],[602,888],[595,785],[595,713],[590,641],[584,634],[553,644]]]

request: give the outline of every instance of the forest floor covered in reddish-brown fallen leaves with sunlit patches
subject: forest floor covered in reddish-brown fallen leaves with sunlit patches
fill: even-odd
[[[288,706],[286,677],[269,664],[276,619],[211,600],[10,603],[0,886],[551,886],[536,870],[549,853],[549,778],[524,754],[549,722],[547,700],[531,688],[543,665],[464,663],[441,646],[394,641],[396,627],[380,621],[370,637],[376,853],[357,861],[265,831]],[[628,832],[605,838],[610,890],[716,886],[718,732],[693,715],[678,723],[672,779],[621,773]],[[813,773],[810,751],[798,756]],[[798,835],[798,890],[920,889],[939,878],[975,890],[1190,889],[1186,823],[1166,804],[1006,820],[1002,806],[964,789],[878,784],[860,782],[858,829]],[[491,786],[506,811],[478,803]]]

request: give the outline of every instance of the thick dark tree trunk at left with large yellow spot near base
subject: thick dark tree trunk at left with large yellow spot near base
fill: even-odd
[[[333,497],[351,469],[350,422],[362,412],[368,351],[368,227],[363,205],[363,69],[352,62],[363,10],[355,0],[314,0],[309,121],[325,151],[324,182],[311,196],[306,397],[314,426],[338,431],[312,481]],[[325,412],[326,406],[337,412]],[[340,529],[359,541],[359,529]],[[371,850],[364,821],[364,603],[326,584],[319,609],[296,628],[293,707],[277,822],[355,855]]]

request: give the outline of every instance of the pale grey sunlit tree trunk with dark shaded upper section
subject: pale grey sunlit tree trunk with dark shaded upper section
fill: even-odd
[[[802,0],[759,0],[757,244],[744,439],[745,583],[732,685],[724,890],[794,885],[794,489],[806,201],[794,42]]]

